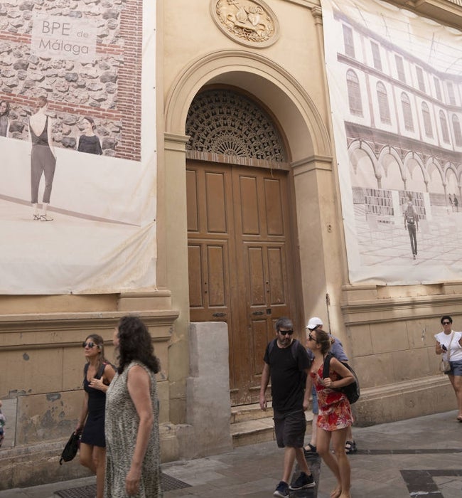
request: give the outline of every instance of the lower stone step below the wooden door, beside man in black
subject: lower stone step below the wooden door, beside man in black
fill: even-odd
[[[311,420],[313,420],[313,413],[308,411],[306,412],[306,434],[311,433]],[[275,439],[272,417],[235,422],[231,424],[230,430],[234,447],[254,445]]]

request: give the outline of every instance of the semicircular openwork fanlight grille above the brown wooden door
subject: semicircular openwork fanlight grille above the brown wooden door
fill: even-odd
[[[255,102],[230,90],[196,95],[186,119],[186,149],[227,156],[286,161],[271,118]]]

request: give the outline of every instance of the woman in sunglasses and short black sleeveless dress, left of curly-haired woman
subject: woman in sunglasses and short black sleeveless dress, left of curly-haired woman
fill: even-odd
[[[96,474],[97,498],[104,494],[106,441],[104,439],[104,408],[106,391],[115,371],[104,358],[104,340],[91,334],[82,343],[87,364],[83,370],[85,397],[75,430],[81,431],[80,463]]]

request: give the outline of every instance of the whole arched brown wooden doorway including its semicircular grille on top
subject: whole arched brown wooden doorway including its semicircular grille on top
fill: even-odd
[[[186,120],[192,322],[227,322],[233,405],[258,400],[262,357],[281,316],[296,317],[291,172],[269,114],[210,88]]]

